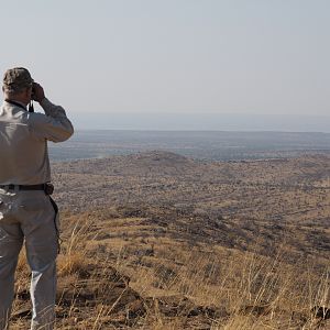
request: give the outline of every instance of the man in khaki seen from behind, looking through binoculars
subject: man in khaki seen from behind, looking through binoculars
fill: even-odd
[[[47,141],[74,132],[64,109],[53,105],[28,69],[6,72],[0,108],[0,330],[8,329],[14,297],[14,272],[25,240],[32,272],[31,329],[54,328],[58,251],[57,207],[52,194]],[[45,111],[28,111],[34,100]]]

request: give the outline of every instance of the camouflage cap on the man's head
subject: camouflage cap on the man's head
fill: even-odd
[[[3,87],[6,91],[20,91],[23,88],[32,86],[32,84],[33,79],[29,70],[23,67],[14,67],[4,73]]]

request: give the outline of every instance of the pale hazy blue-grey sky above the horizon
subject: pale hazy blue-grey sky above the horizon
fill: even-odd
[[[11,0],[1,26],[1,73],[76,118],[330,114],[329,0]]]

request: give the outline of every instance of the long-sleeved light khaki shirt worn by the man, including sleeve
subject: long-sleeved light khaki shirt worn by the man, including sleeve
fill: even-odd
[[[74,128],[65,110],[44,99],[43,113],[7,101],[0,107],[0,185],[38,185],[51,180],[47,141],[63,142]]]

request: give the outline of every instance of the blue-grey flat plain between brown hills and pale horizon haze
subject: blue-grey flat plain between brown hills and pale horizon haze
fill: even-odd
[[[318,132],[81,130],[63,144],[50,144],[52,161],[100,158],[167,150],[218,161],[330,153],[330,134]]]

